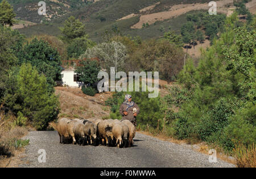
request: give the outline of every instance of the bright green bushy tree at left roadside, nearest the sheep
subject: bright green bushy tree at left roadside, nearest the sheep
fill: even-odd
[[[45,129],[59,113],[59,100],[54,92],[48,91],[46,77],[38,74],[32,65],[23,64],[16,80],[20,111],[36,129]]]

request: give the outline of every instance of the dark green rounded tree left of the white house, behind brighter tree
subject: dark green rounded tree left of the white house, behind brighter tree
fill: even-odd
[[[31,43],[24,45],[19,59],[20,64],[30,63],[36,66],[38,72],[47,77],[48,84],[55,85],[55,81],[60,80],[60,55],[47,41],[33,39]]]

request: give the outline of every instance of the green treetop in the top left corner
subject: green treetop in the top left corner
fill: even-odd
[[[13,7],[6,0],[3,0],[0,3],[0,24],[13,26],[15,16]]]

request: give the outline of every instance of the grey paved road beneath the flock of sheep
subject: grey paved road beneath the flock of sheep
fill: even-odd
[[[218,160],[209,163],[208,155],[184,145],[170,143],[137,132],[134,147],[80,146],[60,144],[56,131],[33,131],[20,167],[234,167]],[[46,163],[38,162],[39,149],[47,153]]]

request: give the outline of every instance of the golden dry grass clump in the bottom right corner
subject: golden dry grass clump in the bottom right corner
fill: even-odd
[[[256,147],[255,144],[249,145],[237,145],[234,149],[234,153],[237,159],[237,166],[239,168],[255,168],[256,167]]]

